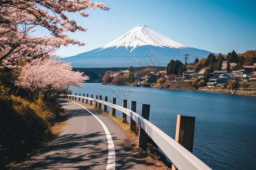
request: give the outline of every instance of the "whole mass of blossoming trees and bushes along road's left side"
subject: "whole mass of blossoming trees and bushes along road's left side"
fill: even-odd
[[[90,1],[0,1],[0,169],[31,156],[64,125],[57,98],[64,87],[82,87],[88,76],[57,61],[55,51],[84,45],[66,32],[86,29],[65,14],[87,17],[88,8],[109,10]],[[34,36],[40,27],[48,36]]]

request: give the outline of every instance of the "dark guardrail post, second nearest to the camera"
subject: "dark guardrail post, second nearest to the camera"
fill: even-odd
[[[142,104],[142,111],[141,111],[141,116],[146,118],[148,120],[149,118],[149,113],[150,113],[150,105],[148,104]],[[148,136],[146,131],[144,131],[141,127],[139,127],[139,141],[138,141],[138,146],[141,148],[146,148],[147,146],[147,141],[148,141]]]

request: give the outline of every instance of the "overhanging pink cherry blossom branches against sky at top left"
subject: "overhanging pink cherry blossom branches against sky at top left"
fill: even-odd
[[[65,34],[65,32],[86,31],[75,20],[68,19],[67,12],[101,8],[109,10],[103,3],[87,0],[1,0],[0,1],[0,61],[11,54],[18,53],[26,44],[59,47],[68,44],[84,45]],[[35,27],[46,28],[50,36],[36,37],[31,33]],[[14,57],[14,56],[13,56]]]

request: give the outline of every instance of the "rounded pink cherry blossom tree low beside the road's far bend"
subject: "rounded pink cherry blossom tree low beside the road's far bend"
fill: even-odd
[[[37,58],[22,67],[15,84],[29,91],[34,100],[40,95],[49,100],[55,99],[65,86],[82,87],[80,83],[89,79],[82,74],[72,71],[70,63],[56,61],[52,57]]]

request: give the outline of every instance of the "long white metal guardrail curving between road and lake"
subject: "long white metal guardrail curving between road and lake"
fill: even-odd
[[[172,164],[175,165],[177,169],[211,169],[209,168],[205,163],[203,163],[200,159],[198,159],[195,155],[193,155],[191,152],[189,152],[186,148],[181,146],[179,143],[177,143],[174,139],[169,137],[166,133],[164,133],[162,130],[160,130],[158,127],[156,127],[154,124],[152,124],[150,121],[146,120],[146,118],[140,116],[138,113],[135,113],[134,111],[131,111],[130,109],[121,107],[119,105],[109,103],[108,101],[103,101],[99,99],[93,99],[92,97],[80,96],[80,95],[60,95],[63,97],[73,97],[73,99],[78,98],[79,101],[82,99],[86,100],[86,104],[88,103],[88,100],[90,100],[90,104],[92,104],[92,101],[100,104],[104,104],[104,110],[106,106],[113,109],[117,109],[118,111],[121,111],[122,113],[129,116],[133,121],[136,122],[141,128],[147,133],[147,135],[152,139],[152,141],[155,142],[155,144],[164,152],[164,154],[167,156],[168,159],[171,160]],[[92,96],[92,95],[91,95]],[[100,96],[101,98],[101,96]],[[105,97],[106,99],[106,97]],[[148,109],[149,111],[149,109]]]

